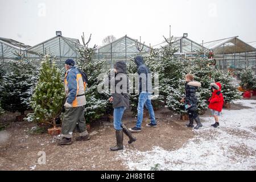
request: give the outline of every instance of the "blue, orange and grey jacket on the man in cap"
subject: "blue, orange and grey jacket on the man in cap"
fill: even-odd
[[[67,96],[66,102],[72,107],[80,107],[86,104],[85,100],[85,86],[82,81],[81,73],[76,68],[69,69],[65,73],[65,94]]]

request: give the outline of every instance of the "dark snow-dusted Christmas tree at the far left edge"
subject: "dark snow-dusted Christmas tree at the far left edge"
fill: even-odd
[[[24,57],[9,63],[9,70],[2,83],[1,103],[7,111],[24,111],[31,109],[30,100],[38,81],[38,68]]]

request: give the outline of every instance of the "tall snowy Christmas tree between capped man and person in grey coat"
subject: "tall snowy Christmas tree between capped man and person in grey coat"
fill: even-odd
[[[91,35],[90,35],[91,38]],[[104,60],[92,60],[92,56],[97,46],[92,48],[88,47],[88,43],[85,43],[84,34],[82,35],[83,47],[79,48],[78,51],[81,55],[77,59],[77,67],[86,73],[88,76],[88,83],[86,84],[85,97],[85,119],[86,123],[91,123],[96,119],[99,119],[104,114],[108,114],[112,111],[112,106],[110,105],[108,99],[109,94],[98,93],[97,86],[102,80],[98,80],[98,75],[104,73]]]

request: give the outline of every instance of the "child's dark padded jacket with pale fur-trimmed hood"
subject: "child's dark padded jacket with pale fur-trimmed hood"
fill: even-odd
[[[187,110],[196,111],[197,110],[197,98],[196,90],[201,86],[200,82],[190,81],[185,84],[185,105],[191,105]]]

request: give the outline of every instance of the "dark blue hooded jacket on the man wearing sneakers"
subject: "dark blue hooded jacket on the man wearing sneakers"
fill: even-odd
[[[139,74],[139,93],[150,92],[152,93],[152,81],[151,73],[146,65],[144,65],[143,57],[137,56],[134,60],[137,65],[137,70]]]

